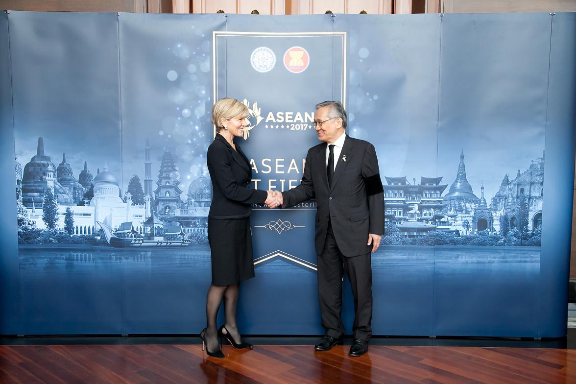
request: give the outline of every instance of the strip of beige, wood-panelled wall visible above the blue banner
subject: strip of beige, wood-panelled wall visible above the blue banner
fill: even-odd
[[[576,12],[576,0],[0,0],[0,9],[66,12],[369,14]]]

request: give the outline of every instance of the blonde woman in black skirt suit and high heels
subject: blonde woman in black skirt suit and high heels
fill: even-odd
[[[272,191],[250,187],[252,168],[240,146],[233,141],[242,137],[247,125],[248,108],[235,98],[221,98],[212,108],[212,122],[217,134],[208,147],[206,160],[213,186],[208,217],[208,242],[212,258],[212,283],[206,298],[207,326],[200,333],[210,356],[223,358],[220,336],[234,348],[248,348],[242,343],[236,325],[238,284],[254,277],[251,204],[276,206]],[[224,299],[226,322],[216,328],[216,317]]]

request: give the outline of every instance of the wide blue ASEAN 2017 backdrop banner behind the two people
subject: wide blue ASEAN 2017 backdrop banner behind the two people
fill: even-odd
[[[300,183],[324,100],[376,147],[374,334],[563,336],[575,29],[574,13],[2,14],[0,334],[203,328],[210,109],[234,97],[252,188]],[[253,207],[242,332],[323,334],[315,214]],[[347,278],[343,298],[350,333]]]

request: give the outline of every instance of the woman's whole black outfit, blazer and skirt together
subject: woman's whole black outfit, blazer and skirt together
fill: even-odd
[[[263,204],[268,194],[250,187],[248,158],[222,135],[208,147],[206,160],[213,188],[208,217],[212,284],[229,286],[254,277],[251,204]]]

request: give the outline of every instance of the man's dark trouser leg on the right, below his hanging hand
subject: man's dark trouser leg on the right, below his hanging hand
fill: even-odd
[[[372,336],[372,263],[370,253],[344,257],[344,268],[354,295],[354,339],[370,340]]]

